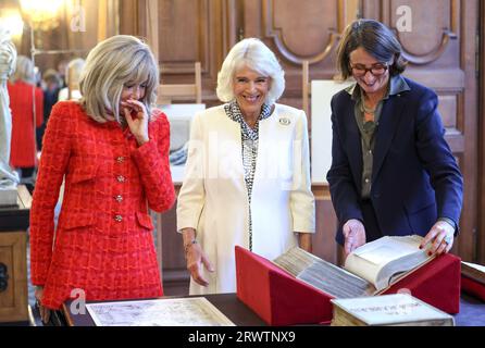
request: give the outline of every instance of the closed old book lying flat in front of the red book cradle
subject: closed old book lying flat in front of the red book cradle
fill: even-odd
[[[455,326],[451,315],[407,294],[331,301],[332,326]]]

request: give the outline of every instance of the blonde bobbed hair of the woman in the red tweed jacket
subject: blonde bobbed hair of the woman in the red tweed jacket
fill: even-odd
[[[113,117],[121,122],[120,99],[127,82],[147,84],[140,101],[150,115],[157,100],[159,69],[148,45],[129,35],[116,35],[99,42],[89,52],[80,74],[80,103],[86,113],[101,123]]]

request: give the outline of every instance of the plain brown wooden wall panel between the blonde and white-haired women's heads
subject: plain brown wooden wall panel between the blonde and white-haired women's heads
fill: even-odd
[[[194,63],[198,61],[202,67],[203,102],[216,102],[217,72],[227,42],[233,40],[226,33],[232,29],[227,7],[231,3],[223,0],[159,0],[162,83],[192,83]]]

